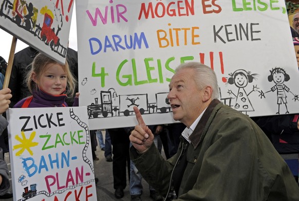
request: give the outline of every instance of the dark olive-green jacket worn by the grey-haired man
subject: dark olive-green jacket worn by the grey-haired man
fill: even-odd
[[[171,178],[181,177],[176,200],[299,200],[287,164],[247,115],[214,99],[189,139],[179,165],[182,145],[188,143],[182,136],[177,154],[168,160],[154,144],[141,155],[130,149],[144,179],[164,197]]]

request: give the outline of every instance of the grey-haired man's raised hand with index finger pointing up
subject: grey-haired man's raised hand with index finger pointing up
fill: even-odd
[[[151,129],[145,125],[140,111],[136,106],[134,107],[134,112],[138,125],[135,126],[135,129],[131,132],[129,139],[139,152],[144,152],[153,144],[154,134]]]

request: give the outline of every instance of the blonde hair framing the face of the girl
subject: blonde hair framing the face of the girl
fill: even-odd
[[[27,76],[26,76],[26,83],[27,83],[30,93],[32,94],[33,90],[39,89],[38,84],[36,84],[32,79],[33,73],[35,73],[35,75],[36,75],[36,82],[39,83],[42,75],[46,71],[45,67],[48,64],[58,64],[62,67],[62,69],[66,73],[66,77],[67,77],[67,85],[66,85],[67,90],[65,93],[66,93],[67,97],[72,97],[74,94],[75,86],[76,86],[76,80],[74,79],[74,77],[69,69],[67,60],[65,61],[65,65],[63,65],[63,64],[60,64],[60,63],[54,61],[53,59],[49,58],[48,56],[46,56],[42,53],[39,53],[38,55],[36,55],[34,57],[33,62],[31,63],[31,69],[27,73]]]

